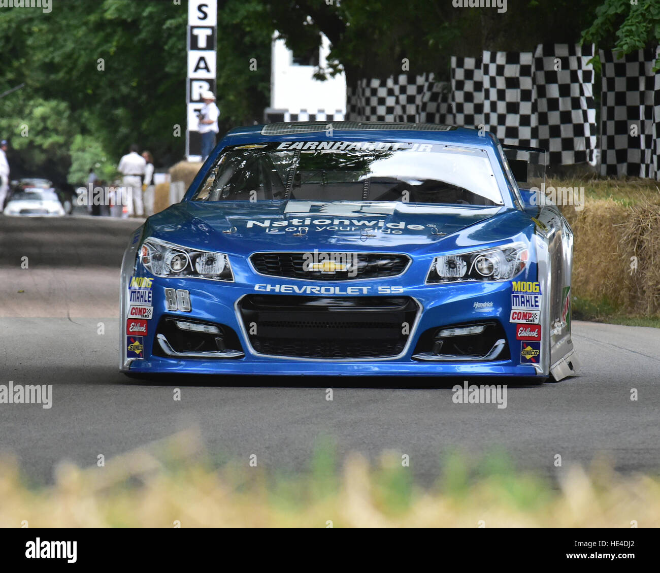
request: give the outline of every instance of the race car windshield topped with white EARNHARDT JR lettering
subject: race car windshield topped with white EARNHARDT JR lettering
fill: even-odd
[[[502,205],[482,149],[426,143],[284,141],[228,147],[193,201],[403,201]]]

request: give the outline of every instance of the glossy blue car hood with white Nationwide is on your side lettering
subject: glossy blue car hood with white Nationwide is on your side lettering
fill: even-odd
[[[395,250],[483,244],[510,238],[531,223],[506,207],[394,202],[183,202],[150,217],[147,234],[193,248]],[[231,245],[232,248],[229,248]]]

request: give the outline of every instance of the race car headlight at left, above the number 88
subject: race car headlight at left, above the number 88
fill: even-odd
[[[141,244],[138,257],[156,277],[234,281],[229,257],[224,253],[200,251],[149,237]]]

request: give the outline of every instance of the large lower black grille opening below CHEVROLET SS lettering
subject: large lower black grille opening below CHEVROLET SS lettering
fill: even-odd
[[[257,353],[329,360],[401,354],[418,312],[408,296],[249,294],[238,308]]]

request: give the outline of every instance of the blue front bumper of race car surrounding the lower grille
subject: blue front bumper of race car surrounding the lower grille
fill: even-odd
[[[535,266],[535,265],[534,265]],[[141,269],[141,275],[151,276]],[[531,275],[531,273],[530,273]],[[536,280],[536,268],[533,269]],[[523,280],[525,280],[523,278]],[[199,279],[162,279],[153,277],[153,316],[149,320],[147,335],[142,337],[143,357],[127,356],[127,333],[125,331],[127,302],[122,296],[122,339],[121,369],[135,373],[195,373],[195,374],[271,374],[284,376],[336,376],[336,375],[379,375],[379,376],[546,376],[548,374],[548,345],[546,329],[542,329],[539,341],[541,354],[536,364],[521,363],[521,341],[516,336],[516,323],[510,321],[511,283],[453,283],[446,285],[422,285],[403,288],[396,296],[410,297],[418,305],[414,321],[408,325],[409,334],[403,350],[396,356],[385,358],[301,358],[295,356],[273,356],[258,353],[251,344],[246,324],[240,312],[239,301],[259,293],[275,294],[277,285],[291,285],[287,279],[257,277],[256,284],[220,283]],[[310,284],[308,281],[302,283]],[[339,293],[347,286],[357,283],[330,283],[339,287]],[[364,286],[364,282],[359,286]],[[370,293],[383,294],[391,288],[391,281],[368,281]],[[127,282],[123,282],[126,289]],[[271,290],[264,292],[263,285]],[[315,283],[317,286],[328,284]],[[165,288],[185,289],[191,301],[190,312],[168,310],[164,296]],[[545,288],[542,286],[542,288]],[[381,292],[379,292],[379,290]],[[280,293],[277,293],[280,294]],[[364,293],[366,296],[366,293]],[[346,296],[337,294],[337,297]],[[542,314],[543,316],[543,314]],[[236,333],[240,341],[241,357],[189,358],[185,356],[163,356],[154,354],[160,345],[156,339],[156,325],[163,317],[201,321],[225,325]],[[496,322],[506,333],[506,357],[494,360],[420,360],[413,358],[418,351],[420,336],[436,327],[460,324]],[[163,354],[156,350],[158,354]]]

